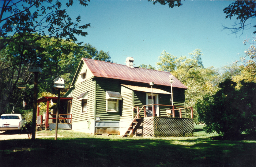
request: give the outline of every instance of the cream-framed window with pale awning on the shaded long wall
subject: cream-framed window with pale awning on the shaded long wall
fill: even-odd
[[[118,100],[122,100],[119,92],[106,91],[106,111],[118,112]]]

